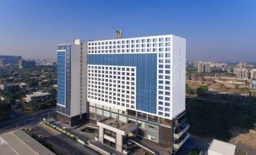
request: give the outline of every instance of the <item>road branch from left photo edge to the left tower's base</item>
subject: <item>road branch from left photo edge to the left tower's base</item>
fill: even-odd
[[[36,123],[42,121],[43,118],[48,119],[53,117],[56,113],[56,108],[48,108],[34,114],[16,114],[13,113],[12,120],[0,123],[0,134],[10,132],[21,126],[34,126]]]

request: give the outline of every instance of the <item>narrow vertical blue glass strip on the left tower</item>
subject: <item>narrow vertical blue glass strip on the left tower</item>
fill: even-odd
[[[57,52],[57,103],[66,105],[66,52]]]

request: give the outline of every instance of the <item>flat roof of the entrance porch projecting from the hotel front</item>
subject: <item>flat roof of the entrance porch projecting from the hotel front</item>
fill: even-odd
[[[123,131],[126,131],[127,129],[131,129],[134,127],[134,124],[132,124],[132,123],[125,123],[120,120],[116,120],[114,118],[107,118],[105,120],[101,120],[100,122],[104,123],[108,126],[112,126],[116,129],[121,129]]]

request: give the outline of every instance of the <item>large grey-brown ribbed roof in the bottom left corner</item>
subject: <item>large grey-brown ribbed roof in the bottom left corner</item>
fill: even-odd
[[[0,154],[54,155],[54,153],[20,129],[0,135]]]

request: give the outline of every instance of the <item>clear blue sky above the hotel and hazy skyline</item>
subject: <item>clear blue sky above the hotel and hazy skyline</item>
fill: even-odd
[[[256,61],[255,0],[0,0],[0,55],[56,58],[57,44],[174,34],[187,60]]]

